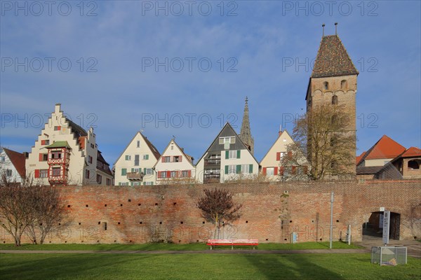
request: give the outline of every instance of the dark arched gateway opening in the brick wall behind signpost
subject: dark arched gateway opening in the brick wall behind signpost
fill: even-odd
[[[363,240],[382,240],[383,211],[371,212],[370,218],[363,223]],[[390,212],[389,239],[399,240],[401,232],[401,214]]]

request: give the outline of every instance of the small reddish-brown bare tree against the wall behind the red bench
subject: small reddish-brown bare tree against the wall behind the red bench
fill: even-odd
[[[242,204],[234,203],[232,194],[227,190],[214,188],[213,190],[205,189],[204,197],[197,202],[197,208],[201,209],[202,217],[215,225],[214,238],[220,237],[220,228],[223,222],[232,222],[240,218],[239,210]]]

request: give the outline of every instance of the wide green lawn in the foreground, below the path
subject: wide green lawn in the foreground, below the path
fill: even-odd
[[[352,254],[0,254],[6,279],[421,279],[421,260],[386,267]]]

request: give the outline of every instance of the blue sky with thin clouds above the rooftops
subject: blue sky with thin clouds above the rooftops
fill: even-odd
[[[110,165],[138,131],[199,160],[248,97],[260,161],[305,113],[335,22],[359,71],[356,153],[384,134],[421,146],[420,1],[0,3],[0,146],[30,151],[60,103]]]

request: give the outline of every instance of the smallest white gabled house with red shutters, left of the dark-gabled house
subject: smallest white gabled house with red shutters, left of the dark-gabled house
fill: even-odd
[[[188,183],[195,178],[196,168],[193,158],[180,148],[174,139],[161,154],[161,158],[154,165],[157,175],[156,182],[164,183]]]

